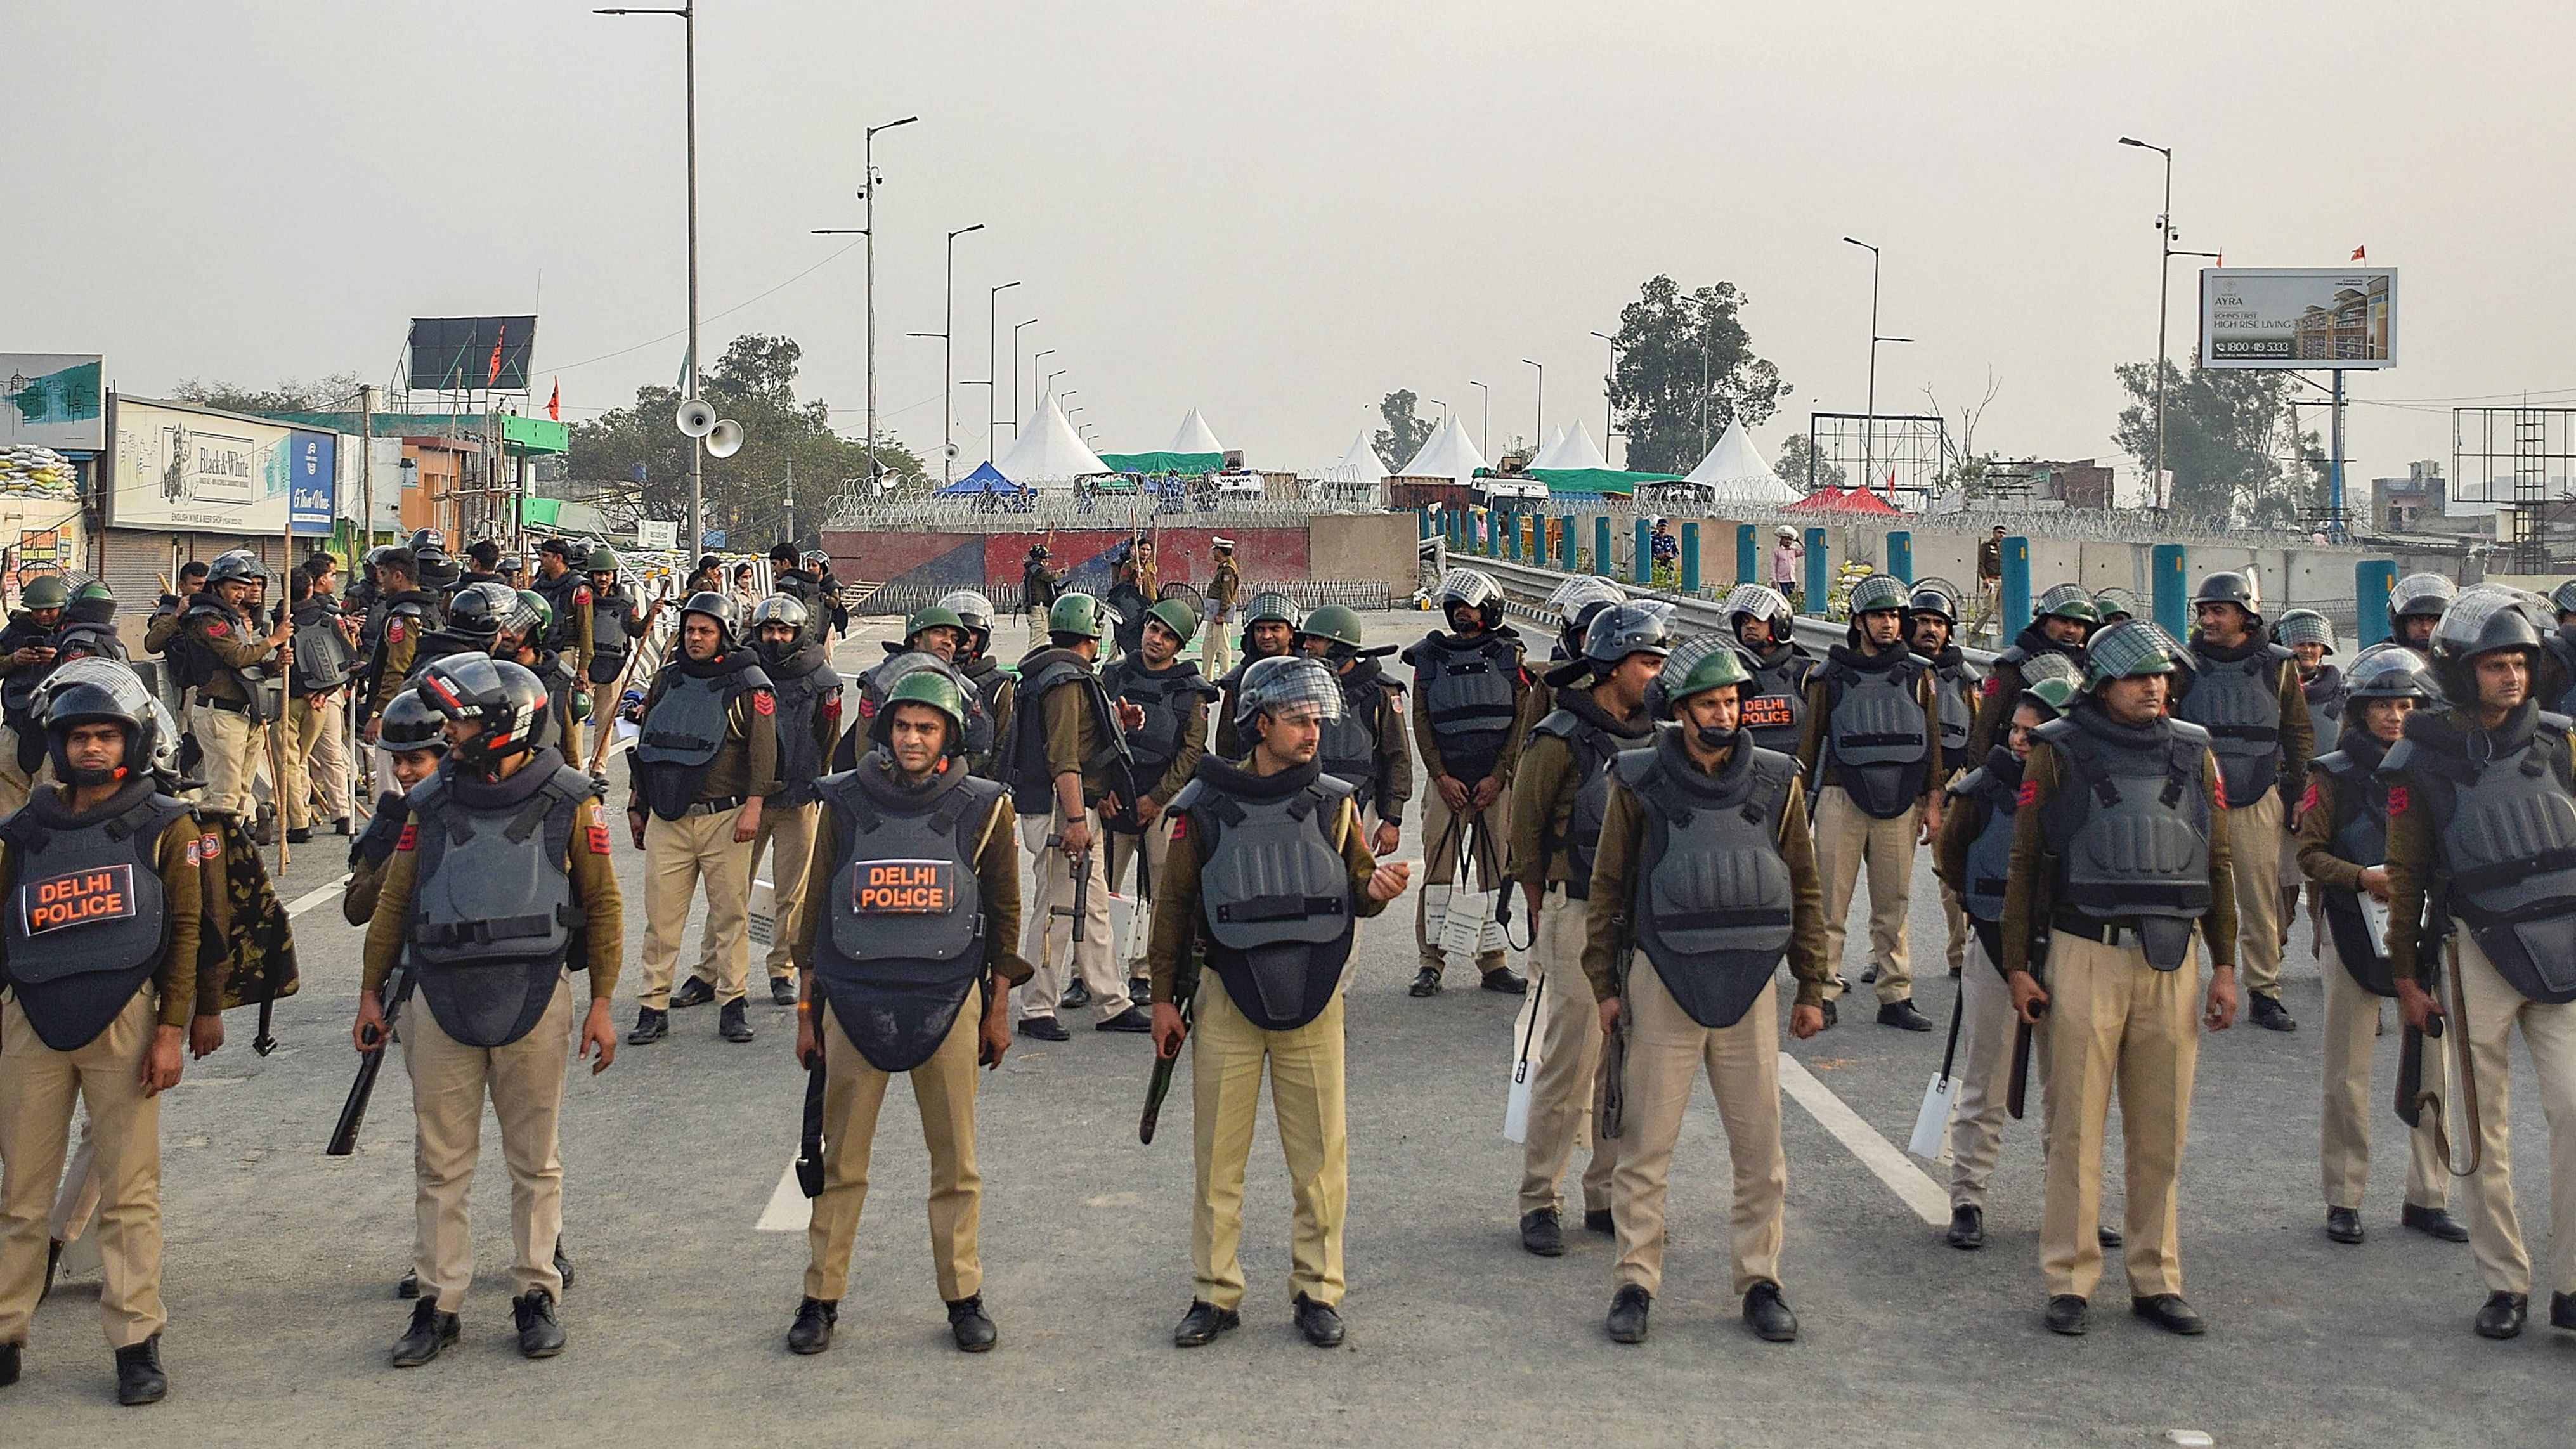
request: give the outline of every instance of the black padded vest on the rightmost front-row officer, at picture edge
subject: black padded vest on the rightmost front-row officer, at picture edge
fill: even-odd
[[[2576,793],[2568,788],[2568,718],[2532,718],[2481,736],[2483,762],[2445,749],[2463,736],[2419,728],[2388,752],[2383,772],[2419,782],[2439,821],[2445,896],[2486,960],[2532,1001],[2576,1001]],[[2427,721],[2437,726],[2439,721]],[[2439,744],[2437,744],[2439,741]]]

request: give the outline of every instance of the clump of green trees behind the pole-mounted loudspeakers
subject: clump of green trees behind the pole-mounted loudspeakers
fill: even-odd
[[[721,528],[729,548],[765,548],[788,535],[791,476],[796,543],[814,543],[829,502],[863,486],[868,474],[868,443],[832,432],[822,399],[796,396],[801,355],[788,337],[734,337],[701,383],[716,414],[742,425],[742,450],[706,458],[703,474],[706,528]],[[631,499],[639,517],[685,520],[688,438],[672,425],[677,409],[677,389],[641,386],[634,407],[572,425],[567,471],[574,486],[600,502]],[[878,438],[876,461],[899,494],[933,486],[922,461],[891,438]]]

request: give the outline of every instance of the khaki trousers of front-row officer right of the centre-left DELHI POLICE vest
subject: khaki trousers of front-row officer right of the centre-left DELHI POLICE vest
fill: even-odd
[[[1342,993],[1293,1032],[1244,1019],[1211,970],[1190,1029],[1190,1132],[1198,1202],[1190,1210],[1190,1295],[1216,1307],[1244,1302],[1244,1163],[1270,1066],[1270,1112],[1288,1158],[1296,1220],[1288,1230],[1288,1292],[1324,1307],[1342,1302],[1342,1223],[1350,1217],[1350,1135],[1342,1125]]]

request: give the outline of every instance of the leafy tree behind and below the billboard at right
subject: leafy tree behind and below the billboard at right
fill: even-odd
[[[2154,363],[2115,368],[2130,404],[2120,409],[2120,443],[2138,468],[2156,468]],[[2290,414],[2290,376],[2267,368],[2202,368],[2164,363],[2164,466],[2174,474],[2169,507],[2205,528],[2298,528],[2318,507],[2316,435]]]

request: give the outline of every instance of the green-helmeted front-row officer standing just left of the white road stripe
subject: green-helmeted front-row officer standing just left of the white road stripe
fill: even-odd
[[[1672,1150],[1705,1071],[1734,1158],[1734,1292],[1744,1325],[1785,1343],[1798,1336],[1798,1315],[1780,1297],[1788,1156],[1772,978],[1788,960],[1798,983],[1790,1035],[1821,1032],[1824,888],[1798,762],[1754,746],[1741,728],[1741,700],[1754,687],[1744,656],[1718,638],[1690,641],[1654,687],[1672,723],[1613,764],[1584,903],[1584,975],[1623,1058],[1602,1096],[1602,1114],[1618,1102],[1620,1117],[1605,1122],[1618,1132],[1618,1264],[1605,1328],[1618,1343],[1646,1341],[1664,1287]]]

